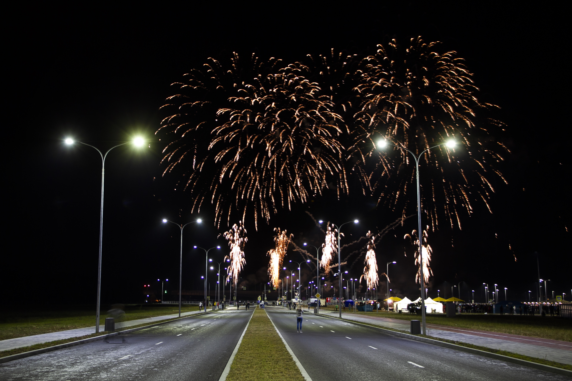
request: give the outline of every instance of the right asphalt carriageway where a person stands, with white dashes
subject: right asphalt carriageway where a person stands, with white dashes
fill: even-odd
[[[567,380],[566,376],[399,338],[340,320],[268,307],[268,315],[313,381]]]

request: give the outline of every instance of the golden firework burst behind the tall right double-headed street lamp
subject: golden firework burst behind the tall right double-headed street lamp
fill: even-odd
[[[419,155],[454,139],[462,149],[441,146],[421,158],[421,199],[432,228],[439,216],[460,227],[460,214],[471,214],[476,200],[491,210],[494,182],[506,183],[497,167],[509,151],[493,136],[501,133],[502,123],[480,116],[496,106],[478,101],[463,59],[455,51],[438,53],[438,46],[420,37],[405,45],[392,40],[362,61],[362,83],[355,87],[360,111],[348,148],[355,164],[348,171],[362,168],[356,173],[367,173],[362,183],[371,186],[378,203],[404,216],[416,207],[407,195],[408,187],[415,190],[414,162],[404,148]],[[381,139],[401,149],[372,148]]]

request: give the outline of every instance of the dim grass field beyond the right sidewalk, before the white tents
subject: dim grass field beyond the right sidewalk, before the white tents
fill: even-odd
[[[333,310],[329,308],[328,310]],[[346,310],[349,312],[349,310]],[[352,312],[353,314],[354,312]],[[419,320],[420,315],[396,314],[395,312],[355,312],[366,316],[381,316],[401,320]],[[535,338],[563,340],[572,342],[572,320],[558,317],[526,316],[526,315],[484,315],[484,314],[461,314],[454,318],[447,318],[444,314],[427,314],[428,324],[440,324],[443,326],[471,328],[501,332],[504,334],[531,336]]]

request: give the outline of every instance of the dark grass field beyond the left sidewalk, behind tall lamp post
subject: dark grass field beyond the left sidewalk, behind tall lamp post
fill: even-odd
[[[197,311],[197,306],[184,306],[181,312]],[[100,324],[105,322],[108,308],[100,312]],[[125,306],[125,315],[116,322],[153,318],[154,316],[176,314],[178,304],[133,304]],[[96,314],[92,308],[82,306],[12,307],[0,310],[0,340],[22,336],[47,334],[92,327]]]

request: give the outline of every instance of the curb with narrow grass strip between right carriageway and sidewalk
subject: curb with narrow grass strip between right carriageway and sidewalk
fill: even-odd
[[[438,345],[440,347],[446,347],[446,348],[450,348],[450,349],[454,349],[454,350],[458,350],[458,351],[462,351],[462,352],[467,352],[467,353],[474,354],[474,355],[484,356],[484,357],[488,357],[488,358],[495,359],[495,360],[506,361],[508,363],[518,364],[518,365],[522,365],[522,366],[529,367],[529,368],[535,368],[538,370],[543,370],[543,371],[547,371],[547,372],[551,372],[551,373],[555,373],[555,374],[559,374],[559,375],[563,375],[563,376],[572,377],[572,371],[562,369],[562,368],[553,367],[550,365],[539,364],[539,363],[531,362],[528,360],[521,360],[521,359],[517,359],[514,357],[510,357],[510,356],[505,356],[505,355],[499,355],[499,354],[492,353],[492,352],[482,351],[480,349],[463,347],[463,346],[460,346],[457,344],[442,342],[440,340],[422,338],[422,337],[419,337],[416,335],[406,334],[403,332],[387,330],[386,328],[371,326],[370,324],[356,322],[355,320],[340,319],[340,318],[334,318],[333,316],[325,316],[325,315],[321,315],[321,316],[323,316],[324,318],[328,318],[328,319],[341,320],[343,322],[356,324],[356,325],[362,326],[362,327],[374,328],[375,330],[380,330],[380,331],[386,332],[387,334],[390,334],[390,335],[400,336],[402,338],[416,340],[418,342],[434,344],[434,345]]]

